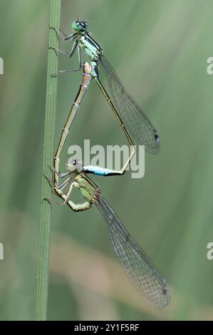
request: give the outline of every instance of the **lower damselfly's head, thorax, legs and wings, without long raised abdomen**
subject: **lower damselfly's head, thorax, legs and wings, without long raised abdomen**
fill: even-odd
[[[66,166],[69,170],[68,178],[62,185],[54,184],[56,194],[64,200],[63,205],[67,204],[74,212],[80,212],[90,209],[91,205],[95,204],[107,223],[110,242],[133,287],[152,306],[163,309],[170,303],[170,290],[162,274],[131,237],[113,208],[100,194],[97,185],[85,175],[82,163],[70,158]],[[64,177],[64,174],[59,176]],[[64,193],[63,189],[66,187],[68,192]],[[70,200],[73,187],[77,187],[83,195],[85,202],[82,204],[75,204]]]

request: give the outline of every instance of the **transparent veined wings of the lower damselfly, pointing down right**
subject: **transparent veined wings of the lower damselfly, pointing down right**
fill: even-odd
[[[152,306],[163,309],[170,303],[170,291],[164,277],[101,195],[95,205],[108,224],[110,241],[133,287]]]

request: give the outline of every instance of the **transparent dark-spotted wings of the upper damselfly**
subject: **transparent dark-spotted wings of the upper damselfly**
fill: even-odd
[[[158,153],[159,136],[157,130],[134,98],[125,91],[123,83],[105,56],[101,55],[98,63],[108,78],[113,102],[130,137],[135,139],[135,144],[145,145],[149,153]]]

